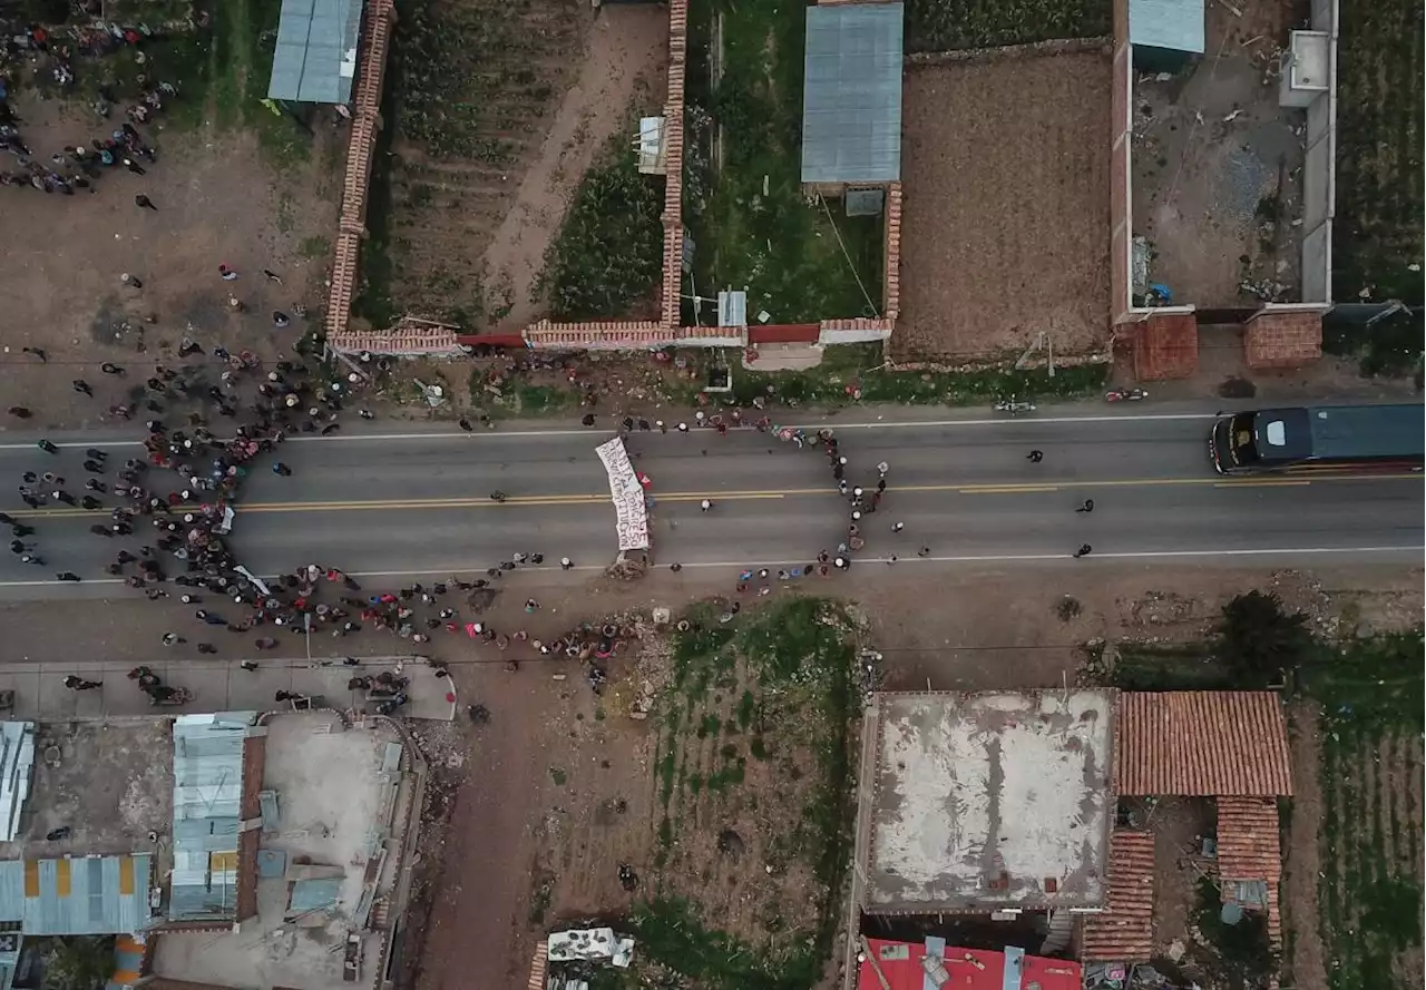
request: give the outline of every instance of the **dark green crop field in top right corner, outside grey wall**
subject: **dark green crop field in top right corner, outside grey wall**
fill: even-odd
[[[1365,291],[1369,299],[1426,302],[1420,3],[1340,10],[1335,298],[1356,302]]]

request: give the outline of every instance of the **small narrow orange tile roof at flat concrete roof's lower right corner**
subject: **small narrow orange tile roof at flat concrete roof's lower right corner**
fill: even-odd
[[[1109,833],[1109,896],[1084,919],[1085,962],[1147,963],[1154,956],[1154,833]]]

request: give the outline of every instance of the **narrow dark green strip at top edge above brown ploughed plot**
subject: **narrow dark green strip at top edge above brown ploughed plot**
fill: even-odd
[[[1114,30],[1108,0],[908,0],[906,50],[950,51],[1092,38]]]

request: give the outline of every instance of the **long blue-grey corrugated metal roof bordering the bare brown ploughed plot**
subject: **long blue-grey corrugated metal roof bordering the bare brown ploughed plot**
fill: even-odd
[[[901,178],[901,4],[807,9],[803,182]]]

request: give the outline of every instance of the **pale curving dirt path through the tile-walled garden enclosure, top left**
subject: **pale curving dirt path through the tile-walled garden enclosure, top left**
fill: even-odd
[[[596,152],[629,123],[627,108],[639,81],[646,78],[656,93],[662,91],[667,31],[663,7],[612,6],[600,11],[579,80],[565,94],[539,158],[525,174],[515,208],[485,252],[486,285],[509,306],[499,332],[519,330],[536,319],[533,289],[545,268],[545,251]]]

